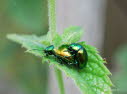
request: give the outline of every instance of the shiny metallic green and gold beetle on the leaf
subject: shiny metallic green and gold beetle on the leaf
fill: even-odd
[[[51,45],[45,48],[44,53],[46,56],[53,55],[61,64],[66,64],[77,69],[84,68],[88,60],[85,48],[77,43],[62,45],[58,49],[55,49]]]

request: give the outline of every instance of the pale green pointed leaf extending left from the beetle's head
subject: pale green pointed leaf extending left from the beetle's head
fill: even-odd
[[[36,56],[43,56],[43,50],[45,45],[42,45],[39,41],[43,39],[42,37],[37,37],[35,35],[17,35],[10,34],[7,35],[7,38],[22,44],[22,47],[27,48],[26,52],[33,53]],[[42,51],[41,51],[42,50]]]

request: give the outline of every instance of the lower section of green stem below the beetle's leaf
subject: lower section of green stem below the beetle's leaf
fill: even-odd
[[[62,72],[55,67],[55,73],[59,84],[60,94],[65,94]]]

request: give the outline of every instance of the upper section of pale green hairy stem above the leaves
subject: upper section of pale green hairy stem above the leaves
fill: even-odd
[[[53,39],[56,33],[56,0],[48,0],[48,16],[50,39]]]

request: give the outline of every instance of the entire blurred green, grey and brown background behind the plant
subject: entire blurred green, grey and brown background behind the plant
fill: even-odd
[[[84,40],[99,48],[113,74],[113,93],[127,94],[127,0],[81,1],[57,0],[58,30],[86,28]],[[0,94],[59,94],[48,65],[6,38],[9,33],[46,34],[47,10],[47,0],[0,0]],[[67,94],[79,94],[71,80],[64,80]]]

